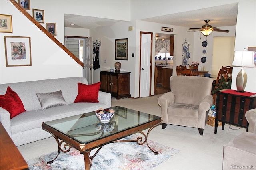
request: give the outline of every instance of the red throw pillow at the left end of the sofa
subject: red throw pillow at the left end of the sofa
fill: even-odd
[[[10,113],[11,119],[26,111],[20,97],[10,86],[7,87],[5,95],[0,95],[0,106]]]

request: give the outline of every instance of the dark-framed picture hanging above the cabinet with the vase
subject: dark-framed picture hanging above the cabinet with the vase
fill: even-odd
[[[128,38],[116,39],[116,60],[128,60]]]

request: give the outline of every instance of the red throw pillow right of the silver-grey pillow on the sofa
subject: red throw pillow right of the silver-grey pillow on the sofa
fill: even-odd
[[[78,95],[76,96],[74,103],[78,103],[78,102],[98,103],[99,90],[100,90],[100,82],[94,83],[92,85],[78,83]]]

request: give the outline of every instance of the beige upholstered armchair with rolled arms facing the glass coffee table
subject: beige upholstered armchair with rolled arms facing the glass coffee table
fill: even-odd
[[[171,76],[171,91],[158,98],[162,129],[167,124],[198,128],[203,135],[208,111],[213,104],[212,79],[197,76]]]

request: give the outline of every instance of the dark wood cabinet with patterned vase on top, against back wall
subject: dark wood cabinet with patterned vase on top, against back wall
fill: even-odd
[[[130,98],[130,72],[100,71],[100,91],[111,93],[112,97]]]

